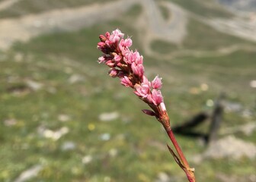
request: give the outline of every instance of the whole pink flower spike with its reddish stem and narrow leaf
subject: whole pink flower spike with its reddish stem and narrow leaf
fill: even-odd
[[[107,64],[110,67],[108,72],[111,77],[119,77],[123,86],[130,87],[139,99],[146,102],[152,110],[143,109],[146,115],[155,116],[157,120],[165,127],[168,137],[170,137],[176,152],[168,146],[171,155],[175,161],[187,174],[190,182],[195,182],[194,169],[190,168],[180,146],[171,130],[170,119],[165,108],[162,93],[162,78],[158,76],[149,81],[144,75],[143,57],[139,52],[131,51],[129,48],[133,44],[129,37],[123,39],[123,33],[120,30],[114,30],[112,33],[105,33],[100,36],[101,42],[98,42],[98,49],[103,55],[98,58],[99,63]]]

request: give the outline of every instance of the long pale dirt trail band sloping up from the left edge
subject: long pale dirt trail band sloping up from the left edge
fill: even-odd
[[[14,41],[27,41],[33,36],[57,30],[78,30],[99,21],[111,20],[127,11],[136,1],[110,2],[82,8],[66,8],[0,20],[0,49],[8,49]],[[123,6],[123,3],[126,5]],[[114,11],[113,11],[114,9]]]

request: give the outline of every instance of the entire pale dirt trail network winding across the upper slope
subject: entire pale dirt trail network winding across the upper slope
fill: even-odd
[[[5,0],[0,2],[0,11],[10,7],[21,0]],[[106,20],[120,17],[120,14],[128,11],[133,5],[142,5],[142,13],[133,21],[133,26],[139,32],[139,38],[147,55],[152,57],[176,58],[181,55],[206,56],[226,55],[238,49],[254,49],[248,46],[232,45],[226,50],[197,51],[181,50],[170,54],[158,54],[151,49],[151,42],[162,39],[179,45],[187,35],[188,17],[194,17],[203,24],[208,24],[215,30],[255,40],[256,24],[245,22],[241,18],[233,19],[206,19],[175,5],[171,2],[161,2],[171,12],[168,20],[162,16],[160,8],[154,0],[119,0],[108,2],[104,5],[88,5],[81,8],[66,8],[46,11],[41,14],[29,14],[18,18],[0,19],[0,49],[8,49],[15,41],[27,41],[34,36],[55,31],[79,30],[82,27],[90,27]],[[226,24],[226,23],[227,24]]]

